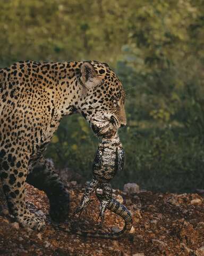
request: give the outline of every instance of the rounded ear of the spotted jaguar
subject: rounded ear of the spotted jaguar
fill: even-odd
[[[84,62],[81,65],[80,79],[87,89],[91,89],[99,85],[102,78],[97,75],[96,70],[89,62]]]

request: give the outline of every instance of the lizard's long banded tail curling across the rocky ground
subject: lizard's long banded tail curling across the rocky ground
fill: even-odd
[[[102,199],[102,195],[96,193],[99,201]],[[123,220],[125,221],[124,228],[117,232],[117,233],[105,233],[101,231],[96,232],[90,232],[90,231],[80,231],[78,230],[76,234],[81,236],[87,236],[87,237],[97,237],[97,238],[106,238],[106,239],[116,239],[118,237],[121,237],[124,233],[129,232],[132,227],[132,215],[130,211],[122,204],[120,204],[118,201],[116,201],[114,198],[111,198],[111,202],[107,206],[108,210],[111,212],[114,212],[115,214],[119,215]]]

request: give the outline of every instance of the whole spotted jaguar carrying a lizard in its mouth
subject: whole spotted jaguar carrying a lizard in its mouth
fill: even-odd
[[[64,219],[69,193],[43,156],[61,118],[81,113],[97,135],[125,125],[125,93],[105,63],[20,61],[0,69],[0,174],[10,213],[23,226],[44,220],[25,202],[25,181],[46,192],[50,214]]]

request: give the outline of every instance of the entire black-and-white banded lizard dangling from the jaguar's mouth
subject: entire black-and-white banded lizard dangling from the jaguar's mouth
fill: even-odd
[[[116,234],[106,234],[106,233],[87,233],[84,231],[78,231],[77,234],[94,236],[94,237],[104,237],[104,238],[115,238],[121,236],[125,230],[130,230],[132,226],[132,217],[128,209],[124,205],[118,203],[112,198],[112,187],[109,183],[115,176],[118,170],[123,169],[124,164],[124,152],[120,138],[116,133],[112,138],[103,138],[98,146],[97,155],[93,164],[93,177],[91,182],[86,187],[86,190],[82,196],[81,203],[75,209],[74,215],[76,213],[81,213],[84,207],[86,207],[90,202],[90,195],[97,188],[103,190],[103,194],[100,195],[96,191],[96,195],[100,201],[100,223],[101,227],[104,221],[104,215],[106,209],[115,212],[120,215],[125,221],[125,228]]]

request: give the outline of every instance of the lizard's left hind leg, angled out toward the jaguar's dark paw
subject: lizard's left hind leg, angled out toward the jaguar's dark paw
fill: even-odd
[[[81,214],[83,209],[90,203],[90,195],[92,192],[94,192],[97,188],[98,181],[96,179],[92,179],[89,184],[87,185],[85,192],[81,198],[80,205],[74,210],[73,216],[75,214]]]

